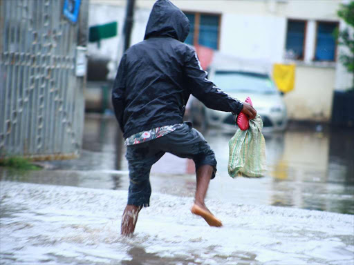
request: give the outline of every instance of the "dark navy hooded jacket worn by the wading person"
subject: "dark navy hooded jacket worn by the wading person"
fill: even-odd
[[[124,52],[115,77],[112,101],[124,138],[183,123],[191,94],[214,110],[242,110],[240,101],[207,80],[196,52],[183,43],[188,33],[185,14],[168,0],[156,1],[144,41]]]

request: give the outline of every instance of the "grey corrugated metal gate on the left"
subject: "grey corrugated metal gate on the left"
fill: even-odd
[[[85,79],[75,75],[75,56],[86,46],[85,2],[72,23],[64,0],[0,0],[0,157],[78,155]]]

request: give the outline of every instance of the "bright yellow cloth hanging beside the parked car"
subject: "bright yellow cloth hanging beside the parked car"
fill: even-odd
[[[295,64],[274,63],[273,79],[281,92],[289,92],[295,85]]]

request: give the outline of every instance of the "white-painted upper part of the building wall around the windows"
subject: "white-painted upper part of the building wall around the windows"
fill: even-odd
[[[135,21],[131,43],[142,41],[149,12],[155,1],[136,1]],[[306,35],[306,61],[312,61],[315,49],[315,20],[338,21],[337,0],[322,1],[201,1],[174,0],[178,8],[185,11],[198,11],[222,14],[220,51],[252,59],[270,59],[272,62],[283,60],[286,41],[286,19],[308,20]],[[119,23],[120,35],[124,23],[125,1],[91,0],[90,25],[105,23],[115,19]],[[106,55],[117,55],[117,49],[104,41]],[[117,41],[115,41],[116,43]],[[113,46],[113,45],[112,45]]]

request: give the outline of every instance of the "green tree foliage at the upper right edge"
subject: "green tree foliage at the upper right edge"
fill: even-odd
[[[348,4],[341,4],[337,14],[348,25],[348,28],[338,33],[339,45],[348,48],[348,53],[339,55],[339,60],[342,61],[348,72],[354,74],[354,1]],[[354,78],[352,89],[354,89]]]

